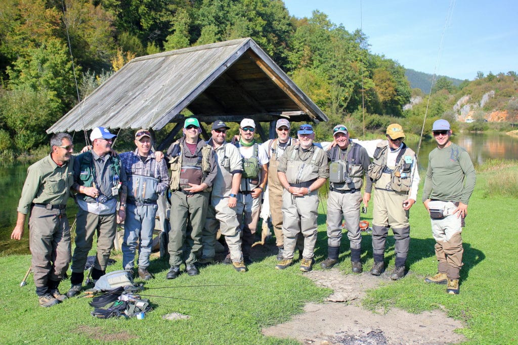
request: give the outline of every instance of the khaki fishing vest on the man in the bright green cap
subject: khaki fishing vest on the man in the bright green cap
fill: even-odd
[[[173,144],[171,158],[169,163],[171,164],[171,180],[169,182],[169,188],[171,191],[181,190],[183,188],[189,188],[189,183],[196,185],[202,184],[210,172],[210,151],[212,147],[205,143],[202,149],[198,152],[198,159],[194,164],[182,164],[182,157],[184,154],[185,140],[176,141]],[[207,187],[203,191],[210,192],[212,187]]]

